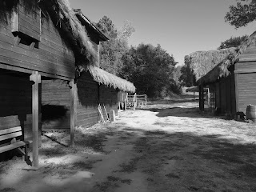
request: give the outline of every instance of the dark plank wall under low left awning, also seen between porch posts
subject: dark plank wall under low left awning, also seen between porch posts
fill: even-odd
[[[76,126],[90,127],[100,120],[98,114],[98,103],[101,103],[104,118],[106,113],[103,104],[106,106],[107,114],[110,110],[118,113],[118,90],[98,85],[89,72],[84,72],[78,78],[76,103]],[[68,109],[65,116],[45,121],[42,119],[42,129],[69,129],[70,128],[70,87],[62,80],[42,80],[42,105],[63,106]],[[43,107],[42,107],[43,109]],[[42,110],[42,117],[44,110]]]

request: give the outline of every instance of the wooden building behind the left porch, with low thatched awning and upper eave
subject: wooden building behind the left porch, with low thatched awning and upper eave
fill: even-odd
[[[98,67],[100,42],[108,38],[80,10],[74,11],[82,26],[86,28],[94,51],[98,53],[97,65],[87,65],[82,71],[77,71],[75,79],[75,126],[89,127],[100,120],[98,104],[101,104],[105,118],[106,113],[111,114],[110,110],[117,114],[118,90],[134,92],[135,87],[133,83]],[[68,84],[63,80],[42,82],[42,129],[69,129],[68,89]]]

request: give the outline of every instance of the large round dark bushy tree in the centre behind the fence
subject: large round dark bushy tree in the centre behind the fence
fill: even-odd
[[[174,83],[173,71],[177,62],[160,45],[140,44],[131,47],[123,58],[122,78],[134,82],[138,94],[160,97]]]

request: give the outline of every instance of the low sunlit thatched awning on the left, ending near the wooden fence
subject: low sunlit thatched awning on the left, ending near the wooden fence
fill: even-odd
[[[88,66],[88,70],[95,82],[106,86],[112,86],[114,89],[124,90],[131,93],[135,92],[136,88],[132,82],[128,82],[125,79],[110,74],[96,66]]]

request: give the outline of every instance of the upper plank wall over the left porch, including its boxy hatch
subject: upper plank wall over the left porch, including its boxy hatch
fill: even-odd
[[[61,37],[50,18],[40,17],[40,11],[26,10],[24,6],[20,6],[18,29],[14,27],[15,16],[0,19],[0,62],[8,66],[74,78],[74,54],[68,43],[64,42],[65,37]],[[38,23],[40,38],[37,38]],[[31,46],[31,41],[35,42],[34,47]]]

